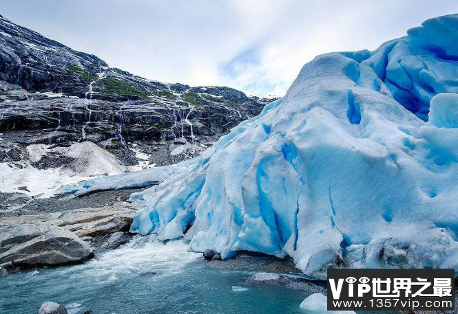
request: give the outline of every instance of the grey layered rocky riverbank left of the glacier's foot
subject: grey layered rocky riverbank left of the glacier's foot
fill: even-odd
[[[125,200],[132,192],[105,191],[73,199],[0,193],[8,204],[0,212],[2,273],[78,264],[127,243],[136,210]]]

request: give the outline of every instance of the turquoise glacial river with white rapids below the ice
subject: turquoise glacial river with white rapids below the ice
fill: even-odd
[[[0,278],[0,313],[37,313],[46,300],[72,314],[304,313],[299,304],[310,293],[246,287],[251,272],[206,263],[181,241],[138,237],[85,265]]]

